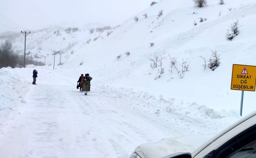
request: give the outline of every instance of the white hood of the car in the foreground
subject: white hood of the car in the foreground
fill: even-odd
[[[177,152],[192,152],[215,134],[200,134],[165,138],[158,142],[150,142],[137,146],[135,152],[142,158],[161,158]]]

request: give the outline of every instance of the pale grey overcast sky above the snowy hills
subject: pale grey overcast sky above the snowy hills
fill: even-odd
[[[32,30],[49,25],[60,25],[64,22],[100,23],[114,26],[150,7],[151,1],[0,0],[0,14],[23,28]],[[4,21],[3,19],[7,19],[2,15],[0,15],[0,32],[16,31],[11,28],[18,28]]]

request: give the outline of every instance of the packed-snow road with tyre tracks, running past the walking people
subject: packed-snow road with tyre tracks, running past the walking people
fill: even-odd
[[[141,143],[183,134],[104,92],[31,85],[25,100],[4,126],[3,158],[129,157]]]

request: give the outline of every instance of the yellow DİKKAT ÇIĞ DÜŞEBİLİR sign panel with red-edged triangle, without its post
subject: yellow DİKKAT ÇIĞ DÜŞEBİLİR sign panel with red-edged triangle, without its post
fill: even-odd
[[[233,64],[231,89],[255,91],[256,66]]]

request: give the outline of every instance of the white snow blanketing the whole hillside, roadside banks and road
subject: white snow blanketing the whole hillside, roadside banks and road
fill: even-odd
[[[232,64],[256,65],[256,2],[217,3],[197,8],[192,1],[162,0],[109,36],[107,30],[34,34],[35,48],[28,51],[42,62],[46,56],[46,66],[0,69],[0,157],[129,157],[141,143],[217,133],[240,119],[241,91],[230,90]],[[240,33],[227,40],[237,19]],[[75,44],[66,49],[69,43]],[[220,66],[204,70],[199,56],[208,60],[215,49]],[[52,51],[58,50],[62,65],[57,54],[53,70]],[[160,67],[150,67],[154,55],[164,57],[160,78]],[[187,60],[189,71],[168,71],[169,56],[178,70]],[[34,69],[37,85],[31,84]],[[76,89],[81,73],[93,78],[88,96]],[[254,95],[244,93],[242,116],[256,109]]]

